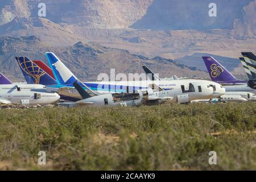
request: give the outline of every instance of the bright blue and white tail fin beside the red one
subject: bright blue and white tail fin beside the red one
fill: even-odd
[[[46,52],[46,57],[52,68],[53,75],[58,84],[73,84],[77,78],[52,52]]]

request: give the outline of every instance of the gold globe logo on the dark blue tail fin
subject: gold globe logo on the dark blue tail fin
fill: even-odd
[[[42,68],[26,57],[18,57],[18,63],[25,73],[34,78],[35,84],[39,84],[40,78],[46,74]]]

